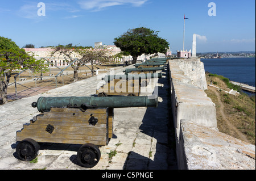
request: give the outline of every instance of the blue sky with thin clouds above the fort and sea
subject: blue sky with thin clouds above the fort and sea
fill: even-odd
[[[39,2],[45,16],[38,16]],[[208,14],[210,2],[216,16]],[[254,0],[0,0],[0,36],[19,47],[114,45],[129,28],[146,27],[159,31],[175,53],[183,49],[184,14],[185,49],[192,49],[196,33],[197,52],[255,51]]]

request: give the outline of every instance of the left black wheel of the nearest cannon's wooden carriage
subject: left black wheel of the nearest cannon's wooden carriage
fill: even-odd
[[[16,147],[16,154],[22,161],[31,161],[38,156],[39,150],[40,146],[38,142],[27,138],[19,142]]]

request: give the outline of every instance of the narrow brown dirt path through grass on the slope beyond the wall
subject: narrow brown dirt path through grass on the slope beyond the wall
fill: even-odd
[[[220,93],[216,90],[216,88],[208,86],[208,90],[212,90],[214,94],[216,94],[217,96],[218,105],[220,105],[220,108],[219,108],[220,115],[222,117],[222,121],[225,121],[225,124],[228,125],[229,127],[228,129],[230,131],[230,136],[234,136],[242,141],[250,142],[249,140],[247,140],[246,136],[243,133],[241,133],[232,123],[230,123],[228,116],[226,116],[226,114],[224,113],[225,106],[221,102]]]

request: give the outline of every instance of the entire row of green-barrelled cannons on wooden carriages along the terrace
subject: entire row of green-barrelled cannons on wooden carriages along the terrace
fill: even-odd
[[[96,166],[101,158],[99,146],[108,145],[113,137],[114,108],[158,107],[158,97],[139,93],[143,83],[147,86],[148,79],[162,78],[162,73],[156,71],[164,70],[166,61],[154,58],[135,64],[134,69],[126,69],[123,75],[106,75],[102,78],[105,85],[96,91],[98,96],[38,98],[32,107],[38,109],[39,115],[16,132],[16,156],[22,161],[32,161],[38,156],[42,142],[81,144],[77,151],[78,165]]]

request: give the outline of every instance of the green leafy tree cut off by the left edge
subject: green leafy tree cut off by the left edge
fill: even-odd
[[[24,49],[20,49],[14,41],[0,36],[0,94],[2,104],[7,103],[7,87],[11,74],[15,70],[46,71],[43,61],[36,61]],[[5,78],[6,77],[6,78]]]

